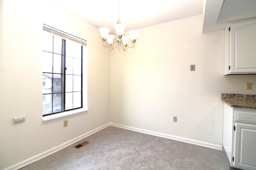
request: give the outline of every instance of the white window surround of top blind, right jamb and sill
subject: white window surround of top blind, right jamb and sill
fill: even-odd
[[[66,119],[68,117],[73,117],[76,115],[81,115],[88,112],[88,104],[87,104],[87,41],[84,39],[80,39],[74,35],[70,35],[53,27],[43,24],[43,31],[51,33],[52,35],[57,35],[63,37],[65,39],[70,39],[72,41],[76,41],[84,46],[83,48],[83,107],[80,109],[74,109],[70,111],[64,111],[61,113],[56,113],[52,115],[42,116],[43,123],[50,123],[54,121],[58,121],[61,119]]]

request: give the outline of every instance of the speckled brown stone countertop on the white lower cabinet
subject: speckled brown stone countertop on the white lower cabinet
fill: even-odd
[[[222,93],[221,100],[230,107],[256,109],[256,95]]]

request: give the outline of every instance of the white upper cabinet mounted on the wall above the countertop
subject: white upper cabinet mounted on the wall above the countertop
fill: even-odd
[[[224,74],[256,74],[256,20],[229,23],[224,31]]]

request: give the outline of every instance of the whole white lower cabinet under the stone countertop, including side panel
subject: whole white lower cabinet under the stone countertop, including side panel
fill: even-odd
[[[224,103],[223,148],[231,167],[256,169],[256,109]]]

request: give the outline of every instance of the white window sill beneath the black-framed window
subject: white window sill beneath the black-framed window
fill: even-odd
[[[46,124],[46,123],[58,121],[58,120],[61,120],[61,119],[66,119],[68,117],[73,117],[73,116],[76,116],[76,115],[82,115],[82,114],[87,113],[87,112],[88,112],[88,109],[82,108],[82,109],[76,109],[76,110],[71,110],[71,111],[65,111],[65,112],[62,112],[62,113],[54,114],[54,115],[44,116],[43,117],[43,123]]]

